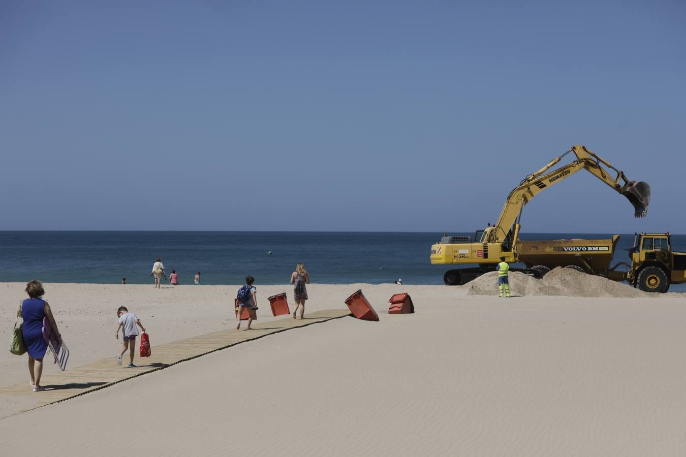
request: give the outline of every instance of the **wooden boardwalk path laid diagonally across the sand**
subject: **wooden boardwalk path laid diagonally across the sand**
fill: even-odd
[[[40,406],[62,402],[69,398],[97,391],[117,382],[165,369],[171,365],[204,356],[214,351],[220,351],[227,347],[245,343],[246,341],[348,315],[350,315],[348,310],[324,310],[311,312],[303,320],[292,319],[288,316],[285,319],[265,323],[257,323],[255,321],[252,323],[250,331],[236,330],[232,326],[228,330],[193,336],[192,338],[158,346],[155,346],[153,341],[152,355],[150,357],[140,358],[138,356],[138,347],[136,347],[137,353],[134,363],[141,364],[137,365],[136,368],[126,368],[126,365],[128,365],[128,353],[124,354],[121,366],[116,365],[116,354],[113,354],[112,357],[104,358],[82,367],[73,369],[67,367],[65,371],[44,375],[40,382],[46,389],[43,392],[33,393],[28,382],[21,382],[14,386],[0,388],[0,394],[30,395],[37,402],[34,406],[23,411],[32,410],[40,408]],[[245,328],[246,325],[247,323],[244,322],[241,327]],[[140,343],[140,338],[137,338],[136,343],[137,345]],[[52,362],[50,354],[46,354],[45,362]]]

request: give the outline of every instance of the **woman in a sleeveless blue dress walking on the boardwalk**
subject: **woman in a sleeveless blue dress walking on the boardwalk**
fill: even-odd
[[[29,298],[21,304],[21,317],[24,319],[22,334],[24,344],[29,354],[29,373],[34,392],[45,390],[40,386],[40,375],[43,373],[43,357],[47,351],[47,341],[43,338],[43,318],[47,317],[52,331],[59,335],[55,318],[52,316],[50,305],[43,299],[43,283],[32,280],[26,284],[25,292]]]

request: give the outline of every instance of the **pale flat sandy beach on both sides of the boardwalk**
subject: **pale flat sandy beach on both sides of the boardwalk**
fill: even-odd
[[[0,284],[5,341],[24,286]],[[292,286],[257,286],[259,321],[283,319],[266,297]],[[45,284],[72,367],[114,364],[122,304],[154,350],[233,325],[237,288]],[[465,286],[312,284],[308,310],[343,308],[358,288],[381,321],[289,330],[17,415],[40,393],[3,396],[3,449],[115,455],[130,436],[150,455],[686,453],[683,295],[499,299]],[[399,291],[415,314],[387,313]],[[2,386],[27,380],[26,356],[5,351],[0,364]],[[27,442],[27,430],[41,438]]]

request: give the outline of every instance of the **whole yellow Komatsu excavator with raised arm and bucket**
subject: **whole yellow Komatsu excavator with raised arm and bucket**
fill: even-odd
[[[576,160],[549,171],[567,154],[574,153]],[[604,167],[615,171],[616,176]],[[477,230],[471,236],[444,236],[431,246],[431,264],[478,264],[479,267],[449,270],[443,276],[448,285],[465,284],[475,277],[493,271],[504,257],[506,262],[517,262],[517,237],[521,212],[532,198],[549,187],[562,182],[577,171],[586,170],[599,180],[624,195],[635,210],[635,217],[645,217],[650,203],[650,186],[646,182],[629,181],[622,171],[581,145],[572,146],[562,156],[548,162],[542,169],[525,177],[505,201],[495,225]],[[512,269],[517,271],[517,269]]]

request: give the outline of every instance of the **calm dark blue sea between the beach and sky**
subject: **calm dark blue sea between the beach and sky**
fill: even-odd
[[[459,235],[459,233],[451,233]],[[473,234],[472,234],[473,235]],[[612,234],[522,234],[523,239],[610,238]],[[445,266],[429,263],[436,233],[381,232],[0,232],[0,281],[152,282],[157,256],[192,284],[285,284],[296,262],[322,284],[393,282],[442,284]],[[623,235],[615,262],[626,261],[634,236]],[[672,235],[686,251],[686,236]],[[272,254],[269,254],[269,252]],[[670,291],[686,291],[686,285]]]

